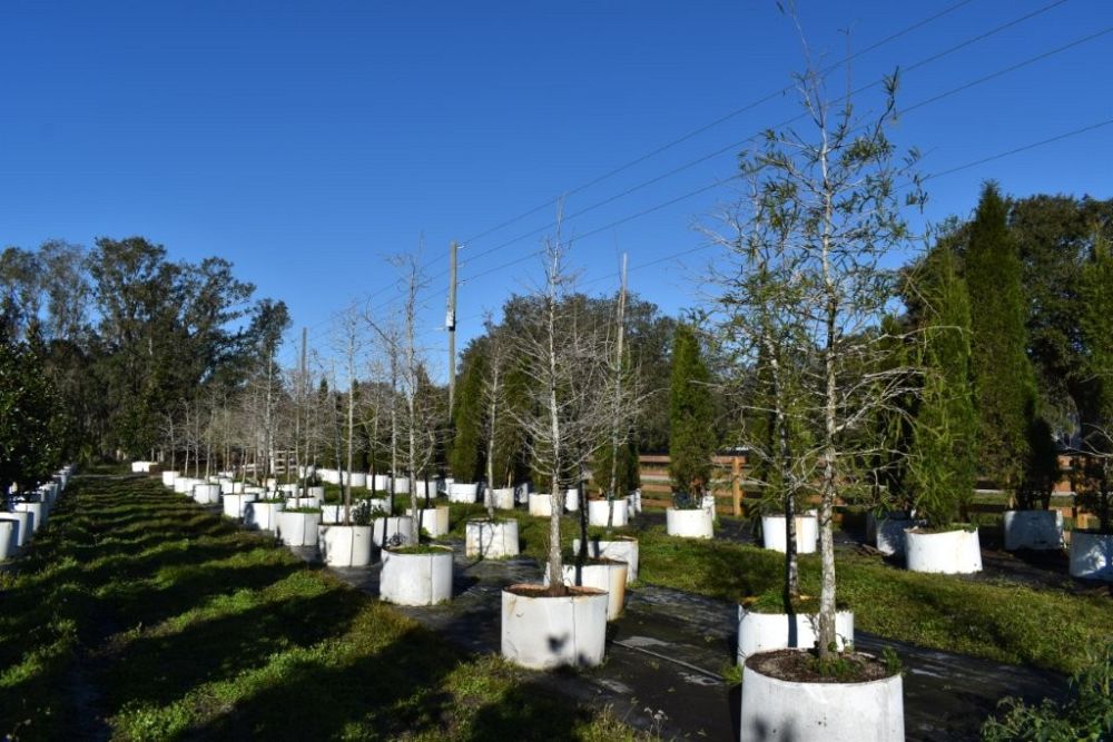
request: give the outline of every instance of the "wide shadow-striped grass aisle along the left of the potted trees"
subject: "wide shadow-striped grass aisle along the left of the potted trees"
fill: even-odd
[[[0,574],[0,735],[633,739],[152,479],[78,479]]]

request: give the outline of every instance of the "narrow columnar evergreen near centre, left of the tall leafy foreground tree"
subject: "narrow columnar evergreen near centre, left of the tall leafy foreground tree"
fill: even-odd
[[[710,484],[716,447],[710,382],[695,330],[683,323],[677,325],[669,397],[669,474],[678,491],[697,499],[697,507]]]

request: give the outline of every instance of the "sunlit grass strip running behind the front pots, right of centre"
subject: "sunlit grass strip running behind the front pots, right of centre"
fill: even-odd
[[[477,505],[453,505],[454,534],[461,535],[464,520],[481,512]],[[519,524],[523,553],[543,562],[549,520],[521,515]],[[579,531],[578,520],[565,516],[565,553]],[[641,583],[732,602],[779,594],[784,556],[775,552],[719,540],[676,538],[659,525],[614,533],[638,537]],[[589,528],[589,534],[602,534],[602,528]],[[1068,674],[1085,666],[1087,650],[1113,640],[1107,593],[920,574],[843,550],[836,558],[840,607],[855,612],[857,629],[886,639]],[[801,591],[818,595],[818,555],[800,557],[800,576]]]

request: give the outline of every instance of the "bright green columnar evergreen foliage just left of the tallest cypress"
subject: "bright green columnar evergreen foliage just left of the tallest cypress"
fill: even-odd
[[[977,417],[971,389],[971,307],[952,250],[937,246],[915,273],[923,300],[923,385],[912,424],[907,484],[929,526],[958,520],[974,495]]]

